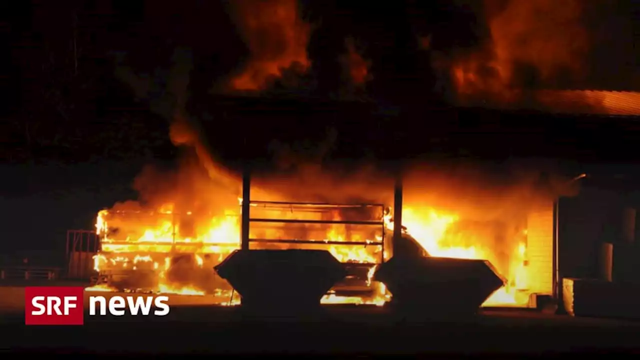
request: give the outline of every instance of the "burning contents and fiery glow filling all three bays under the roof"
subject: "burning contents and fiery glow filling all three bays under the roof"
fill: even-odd
[[[551,291],[546,275],[538,272],[552,261],[550,252],[540,252],[550,249],[552,223],[531,221],[531,210],[538,206],[537,195],[523,195],[519,188],[513,190],[518,195],[507,193],[503,199],[493,200],[501,202],[497,206],[503,208],[501,212],[490,214],[476,206],[456,213],[449,209],[451,202],[464,209],[474,199],[465,200],[467,194],[459,193],[447,204],[443,202],[447,187],[440,184],[440,188],[442,192],[433,193],[435,197],[420,193],[431,206],[412,201],[415,195],[408,188],[408,201],[403,206],[403,241],[408,249],[417,256],[490,261],[506,283],[484,306],[527,306],[531,293]],[[263,188],[261,194],[266,193]],[[279,196],[275,193],[271,199]],[[211,201],[214,206],[210,204],[209,211],[204,206],[200,211],[189,211],[184,201],[180,207],[177,202],[154,209],[125,203],[100,211],[96,227],[101,247],[95,256],[99,282],[90,290],[212,295],[223,304],[238,304],[237,293],[213,268],[240,248],[243,200],[236,198],[236,204],[223,211],[224,204],[215,204],[214,198]],[[531,204],[516,204],[518,201]],[[544,203],[543,212],[550,214],[550,202]],[[509,209],[516,205],[520,211]],[[392,208],[383,204],[252,200],[250,209],[250,249],[328,250],[346,264],[348,276],[323,297],[324,304],[381,306],[391,299],[385,284],[372,277],[392,256]],[[536,236],[532,238],[531,233]],[[550,271],[549,267],[549,275]]]

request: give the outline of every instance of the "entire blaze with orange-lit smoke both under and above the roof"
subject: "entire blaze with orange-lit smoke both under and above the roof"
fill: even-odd
[[[504,3],[490,13],[492,42],[483,51],[435,61],[436,67],[443,65],[438,70],[453,79],[462,102],[489,94],[499,103],[511,103],[524,94],[517,64],[531,63],[529,67],[541,69],[542,80],[553,79],[572,69],[584,48],[582,41],[556,38],[548,29],[531,35],[529,25],[551,6],[549,1]],[[291,71],[307,72],[310,26],[301,20],[296,1],[237,1],[231,6],[250,52],[243,71],[232,77],[231,88],[263,92],[274,79],[286,81]],[[570,35],[584,40],[572,9],[546,20],[568,24]],[[527,46],[519,45],[520,37]],[[435,58],[442,55],[435,49],[436,40],[433,35],[422,42]],[[356,52],[352,40],[346,47],[344,69],[353,86],[363,87],[372,79],[371,64]],[[542,56],[540,49],[567,53]],[[202,141],[205,136],[188,121],[184,79],[187,74],[173,90],[175,108],[161,115],[172,121],[173,143],[189,148],[191,158],[170,174],[141,174],[136,179],[140,202],[100,211],[97,233],[102,243],[95,257],[99,282],[92,290],[214,295],[224,298],[224,304],[237,304],[237,294],[213,268],[241,246],[240,179],[213,160]],[[323,303],[385,304],[392,294],[373,275],[392,256],[388,244],[393,211],[385,209],[390,186],[381,190],[387,179],[374,181],[380,179],[374,172],[328,176],[318,165],[322,159],[311,162],[314,165],[307,161],[306,167],[294,164],[300,165],[294,167],[298,171],[289,169],[287,175],[253,181],[252,197],[260,200],[250,202],[251,248],[328,250],[346,264],[348,276]],[[440,172],[405,174],[401,238],[406,249],[417,257],[489,261],[506,281],[485,306],[527,306],[531,294],[551,293],[555,194],[532,192],[531,183],[495,186],[473,174],[436,174]]]

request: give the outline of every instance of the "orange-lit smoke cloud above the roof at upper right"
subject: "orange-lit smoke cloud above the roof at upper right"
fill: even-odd
[[[550,82],[561,72],[579,74],[580,58],[588,49],[579,1],[566,1],[563,6],[550,0],[484,4],[491,41],[483,51],[452,66],[460,95],[482,94],[501,102],[515,101],[525,87],[524,74],[518,69],[522,64],[547,86],[553,86]]]

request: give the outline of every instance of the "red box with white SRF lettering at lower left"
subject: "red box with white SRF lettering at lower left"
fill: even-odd
[[[84,288],[38,286],[24,289],[26,325],[83,325]]]

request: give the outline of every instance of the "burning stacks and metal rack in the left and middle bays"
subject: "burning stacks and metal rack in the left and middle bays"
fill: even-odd
[[[169,208],[156,212],[100,211],[96,227],[102,245],[95,256],[95,270],[101,283],[96,290],[140,289],[189,295],[232,290],[212,269],[240,247],[239,207],[237,213],[230,212],[223,219],[200,220],[193,213],[180,217]],[[354,213],[369,217],[375,214],[366,206],[362,209],[362,206],[252,202],[254,221],[259,222],[252,229],[255,244],[252,248],[328,249],[343,263],[364,265],[366,277],[362,286],[368,286],[372,269],[383,260],[385,223],[381,207],[378,221],[369,220],[380,225],[377,231],[358,229],[358,225],[371,225],[367,220],[359,223],[340,220]],[[383,287],[377,288],[381,296],[386,295]],[[326,302],[379,302],[343,298],[334,290]]]

